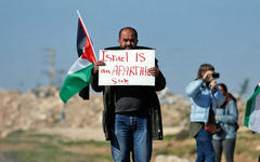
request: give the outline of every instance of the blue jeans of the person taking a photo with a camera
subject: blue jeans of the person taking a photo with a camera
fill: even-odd
[[[197,144],[196,162],[214,162],[214,150],[211,143],[211,134],[202,127],[195,136],[195,139]]]

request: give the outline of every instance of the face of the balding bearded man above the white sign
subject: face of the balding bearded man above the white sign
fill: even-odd
[[[121,31],[118,43],[119,43],[121,49],[131,50],[131,49],[134,49],[136,46],[138,39],[136,39],[134,32],[131,29],[123,29]]]

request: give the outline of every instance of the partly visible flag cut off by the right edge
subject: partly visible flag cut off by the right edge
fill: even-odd
[[[244,125],[260,133],[260,83],[252,96],[247,100]]]

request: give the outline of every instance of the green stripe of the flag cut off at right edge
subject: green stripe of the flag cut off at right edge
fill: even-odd
[[[245,121],[244,121],[244,125],[249,127],[249,119],[250,119],[250,114],[252,113],[252,111],[255,110],[256,107],[256,97],[260,92],[260,86],[257,89],[257,91],[251,95],[251,97],[247,100],[246,104],[246,111],[245,111]]]

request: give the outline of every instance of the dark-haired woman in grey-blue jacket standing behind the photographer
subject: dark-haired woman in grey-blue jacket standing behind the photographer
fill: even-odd
[[[225,161],[234,161],[234,150],[236,131],[238,129],[238,110],[235,97],[227,92],[225,84],[220,83],[218,87],[225,97],[223,105],[217,108],[216,122],[220,125],[219,131],[213,135],[212,144],[216,152],[216,162],[221,161],[222,150],[224,150]]]

